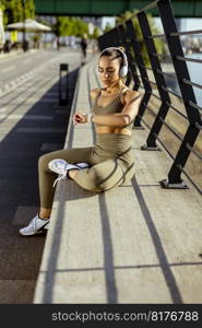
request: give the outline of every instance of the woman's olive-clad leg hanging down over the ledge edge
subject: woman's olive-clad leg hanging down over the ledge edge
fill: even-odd
[[[63,159],[71,164],[90,163],[92,148],[63,149],[45,154],[38,161],[38,185],[40,197],[39,216],[47,219],[51,213],[55,189],[52,187],[57,175],[48,168],[48,163],[55,159]]]

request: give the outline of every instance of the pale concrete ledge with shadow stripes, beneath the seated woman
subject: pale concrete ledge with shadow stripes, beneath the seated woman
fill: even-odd
[[[94,66],[80,70],[71,116],[90,108]],[[201,198],[191,187],[161,188],[170,159],[140,150],[147,133],[132,131],[131,184],[98,194],[72,180],[58,184],[34,303],[202,302]],[[72,126],[70,118],[64,148],[93,142],[92,126]]]

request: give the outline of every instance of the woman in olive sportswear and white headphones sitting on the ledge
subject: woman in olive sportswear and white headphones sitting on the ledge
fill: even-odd
[[[134,175],[131,130],[141,96],[123,83],[128,73],[123,50],[104,49],[98,59],[98,73],[104,87],[91,92],[92,113],[73,115],[73,124],[95,124],[96,144],[62,149],[39,157],[40,209],[31,223],[20,230],[23,236],[43,233],[48,227],[55,194],[52,184],[58,180],[70,178],[86,190],[100,192],[129,183]]]

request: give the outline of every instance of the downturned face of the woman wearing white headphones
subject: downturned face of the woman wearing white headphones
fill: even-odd
[[[99,78],[105,86],[110,86],[120,80],[119,77],[120,60],[112,59],[108,56],[103,56],[98,62]]]

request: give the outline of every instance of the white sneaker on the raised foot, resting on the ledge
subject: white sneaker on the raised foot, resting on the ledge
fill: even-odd
[[[50,171],[59,174],[59,177],[55,180],[54,187],[56,184],[62,179],[67,179],[67,173],[70,169],[82,169],[88,167],[90,164],[87,163],[78,163],[78,164],[70,164],[66,160],[62,159],[55,159],[48,163],[48,167]]]

